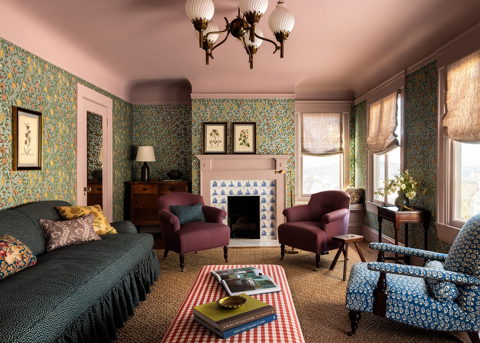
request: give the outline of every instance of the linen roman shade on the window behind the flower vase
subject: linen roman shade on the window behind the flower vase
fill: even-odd
[[[400,146],[395,134],[396,98],[397,92],[370,104],[367,150],[372,154],[384,155]]]

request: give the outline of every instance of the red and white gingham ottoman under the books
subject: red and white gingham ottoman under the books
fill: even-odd
[[[218,281],[210,271],[248,266],[257,267],[262,270],[282,289],[282,292],[253,296],[258,300],[274,306],[278,319],[223,340],[215,333],[193,321],[192,307],[215,301],[223,296],[228,296],[227,292],[218,284]],[[193,282],[192,288],[183,300],[179,311],[161,341],[161,343],[181,342],[305,343],[283,268],[273,264],[239,264],[202,267]]]

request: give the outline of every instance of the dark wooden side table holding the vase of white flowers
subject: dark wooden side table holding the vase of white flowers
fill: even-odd
[[[382,243],[382,221],[388,220],[394,223],[395,228],[395,245],[398,245],[398,229],[400,224],[405,224],[405,247],[408,248],[408,224],[423,223],[425,231],[425,250],[428,250],[428,228],[430,226],[430,211],[413,208],[413,211],[399,210],[396,206],[377,206],[378,209],[378,242]],[[378,252],[377,262],[385,262],[385,260],[395,260],[395,263],[410,264],[410,257],[383,257]],[[400,261],[403,260],[403,261]],[[426,261],[426,260],[425,260]]]

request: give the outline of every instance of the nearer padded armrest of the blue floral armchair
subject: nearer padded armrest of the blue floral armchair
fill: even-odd
[[[367,264],[367,268],[373,272],[407,275],[413,277],[420,277],[423,279],[449,281],[454,284],[480,286],[479,278],[458,272],[441,271],[432,268],[408,266],[385,262],[369,262]]]

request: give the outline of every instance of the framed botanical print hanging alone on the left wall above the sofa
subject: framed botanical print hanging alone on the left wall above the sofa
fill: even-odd
[[[42,170],[42,113],[12,106],[12,170]]]

